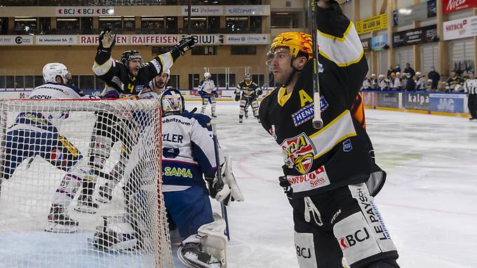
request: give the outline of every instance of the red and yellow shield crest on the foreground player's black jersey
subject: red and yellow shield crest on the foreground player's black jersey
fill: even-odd
[[[311,169],[316,148],[309,136],[302,133],[291,139],[285,139],[281,143],[281,149],[288,167],[295,168],[300,174],[306,174]]]

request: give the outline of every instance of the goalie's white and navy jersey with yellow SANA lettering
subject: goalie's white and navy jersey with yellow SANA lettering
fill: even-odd
[[[206,187],[217,171],[211,132],[190,113],[162,118],[163,191]]]

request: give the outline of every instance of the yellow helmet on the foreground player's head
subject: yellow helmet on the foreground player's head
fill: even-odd
[[[271,41],[270,51],[273,52],[276,48],[287,47],[290,49],[290,54],[297,57],[298,52],[304,52],[308,55],[308,59],[313,57],[313,39],[311,35],[300,33],[296,31],[287,31],[278,34]]]

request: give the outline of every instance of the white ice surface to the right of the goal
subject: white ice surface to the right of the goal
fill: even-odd
[[[188,102],[187,108],[200,111],[199,105]],[[220,142],[234,159],[246,197],[229,207],[229,267],[298,267],[292,210],[277,181],[280,148],[253,117],[238,124],[238,103],[220,102],[217,115]],[[366,110],[366,115],[377,163],[388,174],[375,203],[398,248],[398,263],[405,268],[477,267],[472,257],[477,246],[477,122],[394,111]]]

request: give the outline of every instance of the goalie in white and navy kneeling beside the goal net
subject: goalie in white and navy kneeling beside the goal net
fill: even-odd
[[[178,90],[166,90],[160,100],[164,202],[170,221],[184,239],[177,255],[194,267],[224,267],[225,223],[213,214],[208,195],[218,201],[226,198],[242,201],[243,197],[234,187],[235,180],[224,187],[217,183],[214,139],[210,130],[199,122],[205,122],[206,118],[198,120],[184,111],[184,99]],[[231,171],[227,176],[232,176]]]

